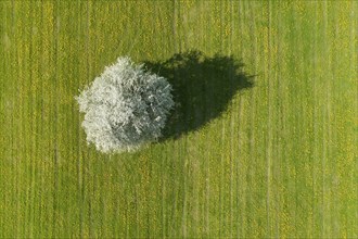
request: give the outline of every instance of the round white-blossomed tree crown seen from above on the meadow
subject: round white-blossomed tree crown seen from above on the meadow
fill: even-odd
[[[105,67],[76,100],[87,142],[104,153],[131,151],[161,137],[174,106],[170,84],[129,58]]]

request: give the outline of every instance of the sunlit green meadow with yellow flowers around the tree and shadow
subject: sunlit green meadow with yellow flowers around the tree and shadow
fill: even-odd
[[[357,238],[357,16],[354,0],[1,1],[0,237]],[[78,89],[119,55],[187,50],[241,59],[254,86],[178,138],[87,146]]]

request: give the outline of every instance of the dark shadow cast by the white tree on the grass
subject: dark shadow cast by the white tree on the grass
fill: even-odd
[[[172,86],[176,105],[163,131],[164,141],[197,130],[226,111],[232,97],[254,86],[243,72],[244,64],[233,56],[205,56],[201,51],[176,53],[159,62],[144,62],[145,67]]]

